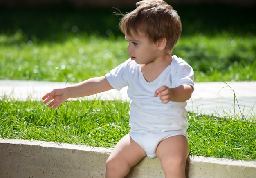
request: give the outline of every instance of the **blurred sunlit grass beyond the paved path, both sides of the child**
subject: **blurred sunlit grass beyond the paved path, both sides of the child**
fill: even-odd
[[[0,40],[18,40],[0,35]],[[173,54],[195,71],[195,82],[256,80],[256,35],[214,38],[203,33],[182,37]],[[63,42],[0,45],[0,79],[81,82],[102,76],[129,58],[122,36],[71,36]]]

